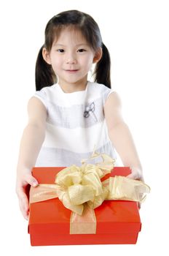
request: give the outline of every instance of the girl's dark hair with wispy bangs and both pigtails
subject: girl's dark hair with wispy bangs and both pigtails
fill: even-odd
[[[39,50],[36,60],[36,91],[46,86],[52,86],[57,82],[52,66],[43,59],[42,50],[46,48],[50,52],[52,43],[60,36],[60,32],[67,27],[79,30],[93,50],[96,51],[99,47],[102,48],[101,60],[95,65],[94,80],[111,88],[109,50],[102,42],[98,24],[90,15],[77,10],[70,10],[60,12],[47,23],[44,45]]]

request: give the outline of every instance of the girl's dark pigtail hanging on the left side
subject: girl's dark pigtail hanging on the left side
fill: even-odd
[[[55,83],[56,77],[50,64],[44,61],[42,56],[42,48],[40,48],[35,68],[36,91],[41,90],[43,87],[52,86]]]

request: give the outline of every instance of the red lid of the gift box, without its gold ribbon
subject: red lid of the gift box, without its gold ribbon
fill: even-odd
[[[53,184],[55,175],[64,167],[34,167],[33,176],[39,184]],[[127,176],[129,167],[114,167],[111,176]],[[106,177],[105,177],[106,178]],[[125,200],[105,200],[95,208],[96,233],[135,233],[141,230],[136,202]],[[58,198],[39,203],[31,203],[29,233],[50,232],[68,234],[71,211]]]

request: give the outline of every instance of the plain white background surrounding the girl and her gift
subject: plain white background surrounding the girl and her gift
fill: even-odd
[[[1,1],[1,255],[168,255],[169,1]],[[34,94],[34,66],[47,21],[64,10],[81,10],[98,22],[111,53],[111,80],[122,99],[152,188],[140,214],[136,245],[31,247],[27,222],[15,195],[20,137],[26,105]]]

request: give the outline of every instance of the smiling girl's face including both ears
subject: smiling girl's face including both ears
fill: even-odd
[[[87,73],[92,64],[101,59],[101,49],[94,52],[80,31],[64,29],[53,42],[50,53],[43,51],[44,59],[52,65],[60,86],[87,83]]]

